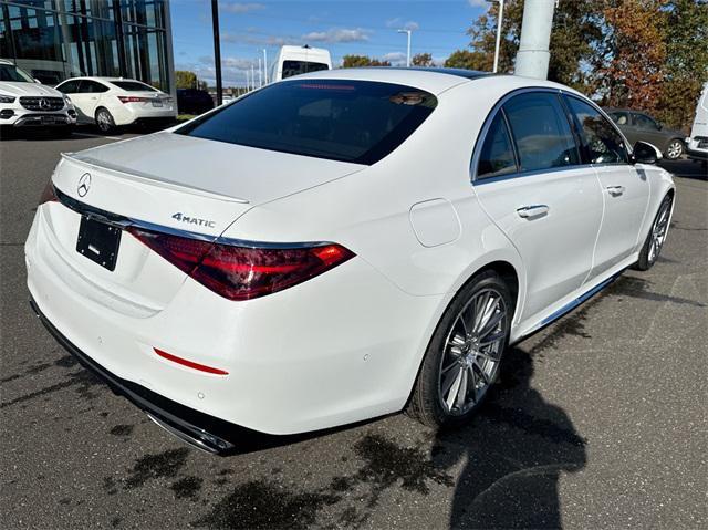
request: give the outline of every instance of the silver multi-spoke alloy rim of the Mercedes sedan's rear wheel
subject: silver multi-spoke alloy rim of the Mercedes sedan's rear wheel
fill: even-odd
[[[507,305],[496,289],[483,289],[452,322],[438,371],[438,398],[460,416],[487,393],[499,371],[507,333]]]

